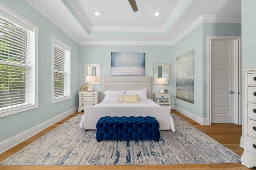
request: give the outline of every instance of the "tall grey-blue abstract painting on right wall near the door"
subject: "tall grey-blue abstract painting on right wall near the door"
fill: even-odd
[[[176,58],[176,98],[194,103],[194,50]]]

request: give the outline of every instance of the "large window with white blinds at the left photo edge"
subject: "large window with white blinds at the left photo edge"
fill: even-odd
[[[0,7],[0,117],[38,107],[38,27]]]

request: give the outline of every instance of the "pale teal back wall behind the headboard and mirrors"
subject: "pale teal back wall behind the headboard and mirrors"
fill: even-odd
[[[130,46],[130,45],[81,45],[80,46],[80,63],[79,63],[79,80],[83,84],[83,64],[101,64],[101,76],[110,76],[110,58],[111,52],[133,52],[145,53],[145,76],[152,76],[152,92],[158,93],[160,85],[153,84],[153,64],[170,63],[171,64],[171,84],[163,84],[163,89],[170,91],[174,86],[174,72],[172,63],[173,47],[172,46]],[[92,85],[94,90],[100,91],[100,101],[103,99],[103,79],[100,85]],[[173,97],[171,97],[171,102]]]

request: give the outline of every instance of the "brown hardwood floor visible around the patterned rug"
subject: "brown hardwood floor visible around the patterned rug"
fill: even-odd
[[[182,115],[178,111],[172,109],[172,113],[180,116],[182,119],[193,125],[194,127],[200,129],[202,132],[206,133],[222,145],[226,146],[230,150],[236,152],[236,154],[241,155],[243,149],[240,145],[240,137],[242,134],[242,127],[233,123],[215,123],[212,125],[200,125],[195,121],[189,119],[188,117]],[[0,162],[11,156],[12,154],[18,152],[18,150],[26,147],[36,139],[40,138],[42,135],[48,133],[58,125],[64,123],[68,119],[80,114],[78,112],[62,119],[61,121],[55,123],[54,125],[44,129],[40,133],[30,137],[26,141],[16,145],[15,147],[7,150],[0,154]],[[240,163],[232,164],[182,164],[182,165],[133,165],[133,166],[0,166],[0,170],[198,170],[198,169],[209,169],[209,170],[246,170],[245,166]],[[252,168],[256,170],[256,168]]]

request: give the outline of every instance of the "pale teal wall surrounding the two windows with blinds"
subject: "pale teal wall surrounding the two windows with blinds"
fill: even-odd
[[[38,100],[39,107],[0,118],[0,142],[27,129],[30,129],[52,117],[78,106],[79,89],[79,45],[56,25],[30,6],[25,0],[0,0],[21,16],[39,27],[38,41]],[[51,104],[51,43],[52,35],[69,45],[71,49],[71,99]],[[42,111],[42,116],[39,116]]]

